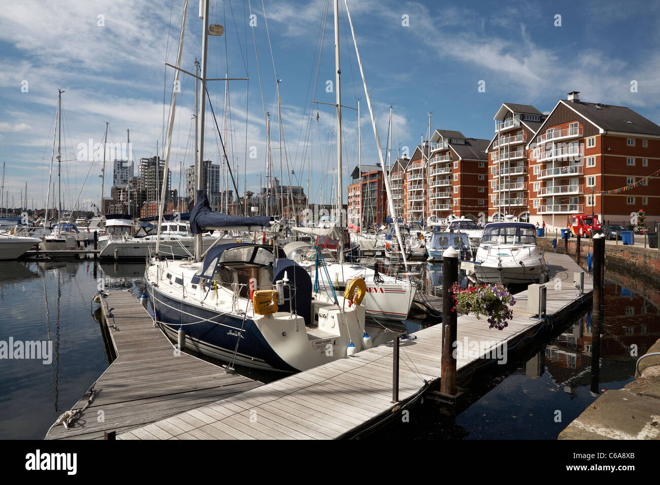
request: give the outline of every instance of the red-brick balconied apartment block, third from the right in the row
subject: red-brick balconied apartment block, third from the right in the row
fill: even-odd
[[[488,140],[460,131],[436,130],[430,139],[428,210],[431,220],[466,216],[477,220],[488,209]]]

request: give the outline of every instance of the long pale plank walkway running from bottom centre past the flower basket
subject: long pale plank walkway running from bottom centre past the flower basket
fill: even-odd
[[[590,298],[593,285],[585,275],[585,295],[573,286],[581,271],[569,256],[546,253],[550,281],[546,308],[551,318],[568,317],[571,307]],[[555,278],[561,282],[561,288]],[[515,296],[514,317],[503,331],[489,330],[486,319],[458,319],[458,340],[493,341],[512,348],[539,331],[543,321],[530,319],[527,290]],[[216,403],[199,406],[117,436],[117,439],[333,439],[355,436],[419,397],[426,381],[438,379],[442,325],[401,341],[399,403],[392,399],[392,344],[380,345],[251,389]],[[531,341],[531,339],[530,339]],[[488,348],[487,350],[490,350]],[[509,357],[511,358],[511,357]],[[459,356],[458,375],[475,372],[484,360]]]

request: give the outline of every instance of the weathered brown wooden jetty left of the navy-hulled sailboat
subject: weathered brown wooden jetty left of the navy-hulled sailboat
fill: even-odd
[[[189,354],[175,356],[170,340],[130,292],[108,292],[102,309],[117,359],[94,383],[94,401],[69,430],[58,424],[46,439],[99,439],[105,431],[145,426],[262,385]],[[72,409],[87,400],[82,397]]]

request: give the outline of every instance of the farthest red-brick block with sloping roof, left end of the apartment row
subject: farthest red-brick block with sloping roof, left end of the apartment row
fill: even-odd
[[[387,191],[380,164],[356,166],[348,185],[348,222],[360,224],[360,206],[364,229],[382,224],[387,217]]]

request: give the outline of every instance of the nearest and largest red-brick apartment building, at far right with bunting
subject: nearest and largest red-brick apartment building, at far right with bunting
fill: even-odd
[[[660,126],[630,108],[581,102],[570,92],[525,148],[529,222],[564,228],[570,214],[593,212],[627,226],[640,209],[649,227],[660,221],[660,178],[647,178],[660,169]]]

